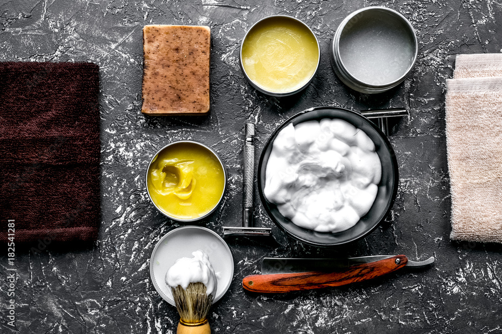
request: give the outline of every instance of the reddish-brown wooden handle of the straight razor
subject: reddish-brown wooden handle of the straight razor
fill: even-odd
[[[253,292],[280,293],[340,286],[375,278],[402,268],[408,262],[405,255],[396,255],[371,263],[361,263],[337,272],[298,272],[287,274],[250,275],[242,286]]]

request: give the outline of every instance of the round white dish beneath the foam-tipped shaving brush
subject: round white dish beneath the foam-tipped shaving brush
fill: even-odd
[[[214,231],[201,226],[182,226],[164,235],[150,257],[150,277],[161,297],[175,305],[170,287],[166,284],[167,270],[181,257],[192,257],[202,250],[209,256],[218,285],[213,303],[230,287],[233,278],[233,256],[226,242]]]

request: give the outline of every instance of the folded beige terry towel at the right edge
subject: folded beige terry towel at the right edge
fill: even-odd
[[[502,55],[457,56],[454,78],[446,82],[450,237],[502,242]]]

